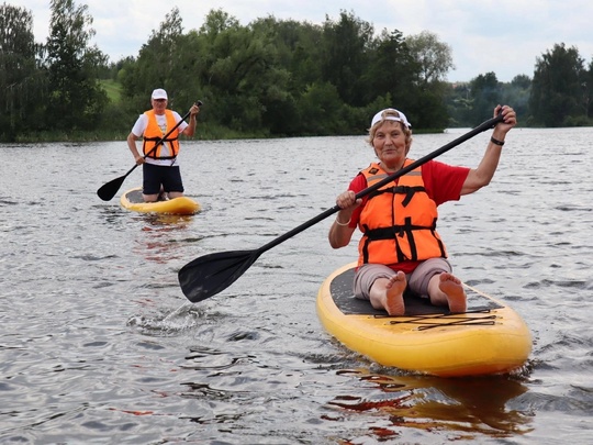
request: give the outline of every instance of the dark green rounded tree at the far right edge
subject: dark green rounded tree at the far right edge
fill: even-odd
[[[586,116],[584,60],[573,46],[563,43],[536,58],[529,97],[535,123],[562,126],[578,116]]]

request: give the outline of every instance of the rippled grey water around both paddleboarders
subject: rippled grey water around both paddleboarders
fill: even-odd
[[[415,136],[419,158],[467,130]],[[475,166],[490,132],[439,157]],[[440,208],[457,275],[534,336],[513,376],[439,379],[345,349],[315,313],[331,219],[190,304],[177,271],[258,248],[335,203],[365,137],[186,142],[194,216],[131,213],[97,189],[125,142],[1,145],[0,443],[591,444],[593,129],[513,130],[493,183]],[[136,169],[121,191],[141,183]]]

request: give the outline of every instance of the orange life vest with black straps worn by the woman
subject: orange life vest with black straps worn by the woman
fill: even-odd
[[[406,159],[404,166],[412,164]],[[379,164],[360,173],[370,187],[389,176]],[[436,232],[438,211],[424,189],[422,167],[371,192],[360,212],[358,265],[394,265],[447,257],[445,244]]]

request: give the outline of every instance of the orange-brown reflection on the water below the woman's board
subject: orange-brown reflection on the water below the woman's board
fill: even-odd
[[[508,408],[528,389],[506,376],[443,379],[370,374],[355,369],[338,371],[369,382],[378,391],[361,396],[338,396],[328,404],[346,411],[376,412],[388,425],[372,426],[371,435],[396,437],[402,427],[458,433],[475,438],[480,434],[510,437],[533,430],[533,414]]]

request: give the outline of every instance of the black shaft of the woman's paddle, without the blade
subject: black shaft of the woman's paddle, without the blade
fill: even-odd
[[[448,152],[449,149],[456,147],[459,144],[462,144],[467,140],[475,136],[477,134],[482,133],[482,132],[484,132],[484,131],[486,131],[489,129],[492,129],[494,125],[496,125],[499,122],[502,122],[502,121],[503,121],[503,116],[502,116],[502,114],[499,114],[496,118],[492,118],[492,119],[481,123],[480,125],[478,125],[477,127],[474,127],[470,132],[468,132],[468,133],[459,136],[458,138],[449,142],[448,144],[444,145],[443,147],[427,154],[426,156],[421,157],[419,159],[415,160],[414,163],[410,164],[409,166],[403,167],[402,169],[395,171],[394,174],[391,174],[387,178],[384,178],[381,181],[366,188],[365,190],[359,191],[358,193],[356,193],[356,199],[360,199],[360,198],[366,197],[367,194],[373,192],[374,190],[378,190],[381,187],[385,186],[387,183],[398,179],[400,176],[403,176],[403,175],[412,171],[413,169],[419,167],[421,165],[426,164],[428,160],[434,159],[437,156],[440,156],[441,154]],[[255,251],[257,253],[256,255],[259,256],[264,252],[269,251],[272,247],[276,247],[278,244],[283,243],[284,241],[291,238],[292,236],[305,231],[306,229],[311,227],[312,225],[315,225],[316,223],[318,223],[320,221],[325,220],[327,216],[339,212],[339,210],[340,210],[340,208],[337,204],[334,205],[331,209],[327,209],[325,212],[318,214],[317,216],[313,218],[312,220],[309,220],[307,222],[299,225],[298,227],[292,229],[291,231],[284,233],[283,235],[277,237],[276,240],[270,241],[268,244],[259,247],[257,251]]]

